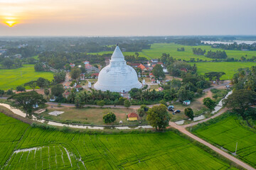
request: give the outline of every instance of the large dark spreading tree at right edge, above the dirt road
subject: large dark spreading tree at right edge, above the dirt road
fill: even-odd
[[[227,108],[231,108],[234,113],[242,116],[244,120],[246,120],[245,111],[255,103],[256,101],[256,92],[249,90],[235,90],[233,94],[230,94],[228,98],[224,100],[224,105]]]

